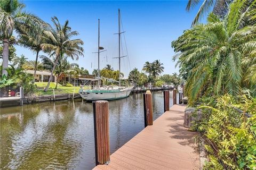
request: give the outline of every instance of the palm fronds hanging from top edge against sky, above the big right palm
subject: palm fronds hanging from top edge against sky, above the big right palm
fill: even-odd
[[[203,18],[206,14],[209,14],[210,10],[220,18],[223,18],[227,14],[228,6],[233,0],[204,0],[204,1],[197,1],[197,0],[188,0],[188,4],[186,7],[187,11],[193,9],[196,5],[201,4],[195,19],[192,22],[192,25],[198,23],[199,20]]]

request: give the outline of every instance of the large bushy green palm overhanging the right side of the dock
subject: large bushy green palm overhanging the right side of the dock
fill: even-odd
[[[248,8],[243,2],[230,4],[225,19],[210,14],[207,24],[196,25],[172,42],[175,52],[181,52],[174,60],[186,75],[190,105],[212,87],[215,95],[237,96],[244,88],[256,95],[256,25],[251,12],[255,3]]]

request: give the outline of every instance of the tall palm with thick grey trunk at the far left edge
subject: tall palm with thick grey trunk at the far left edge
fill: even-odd
[[[37,16],[23,11],[24,4],[18,0],[0,1],[0,39],[3,41],[3,71],[2,74],[8,75],[9,44],[13,31],[21,33],[25,28],[31,33],[36,27],[41,27],[42,20]]]

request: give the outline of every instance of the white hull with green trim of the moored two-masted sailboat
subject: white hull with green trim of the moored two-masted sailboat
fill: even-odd
[[[89,101],[93,100],[116,100],[130,95],[132,88],[123,90],[79,90],[80,96]]]

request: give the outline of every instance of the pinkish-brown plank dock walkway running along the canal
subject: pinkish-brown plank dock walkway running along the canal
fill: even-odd
[[[108,165],[93,169],[199,169],[199,151],[193,139],[197,133],[183,128],[185,108],[172,106],[115,151]]]

